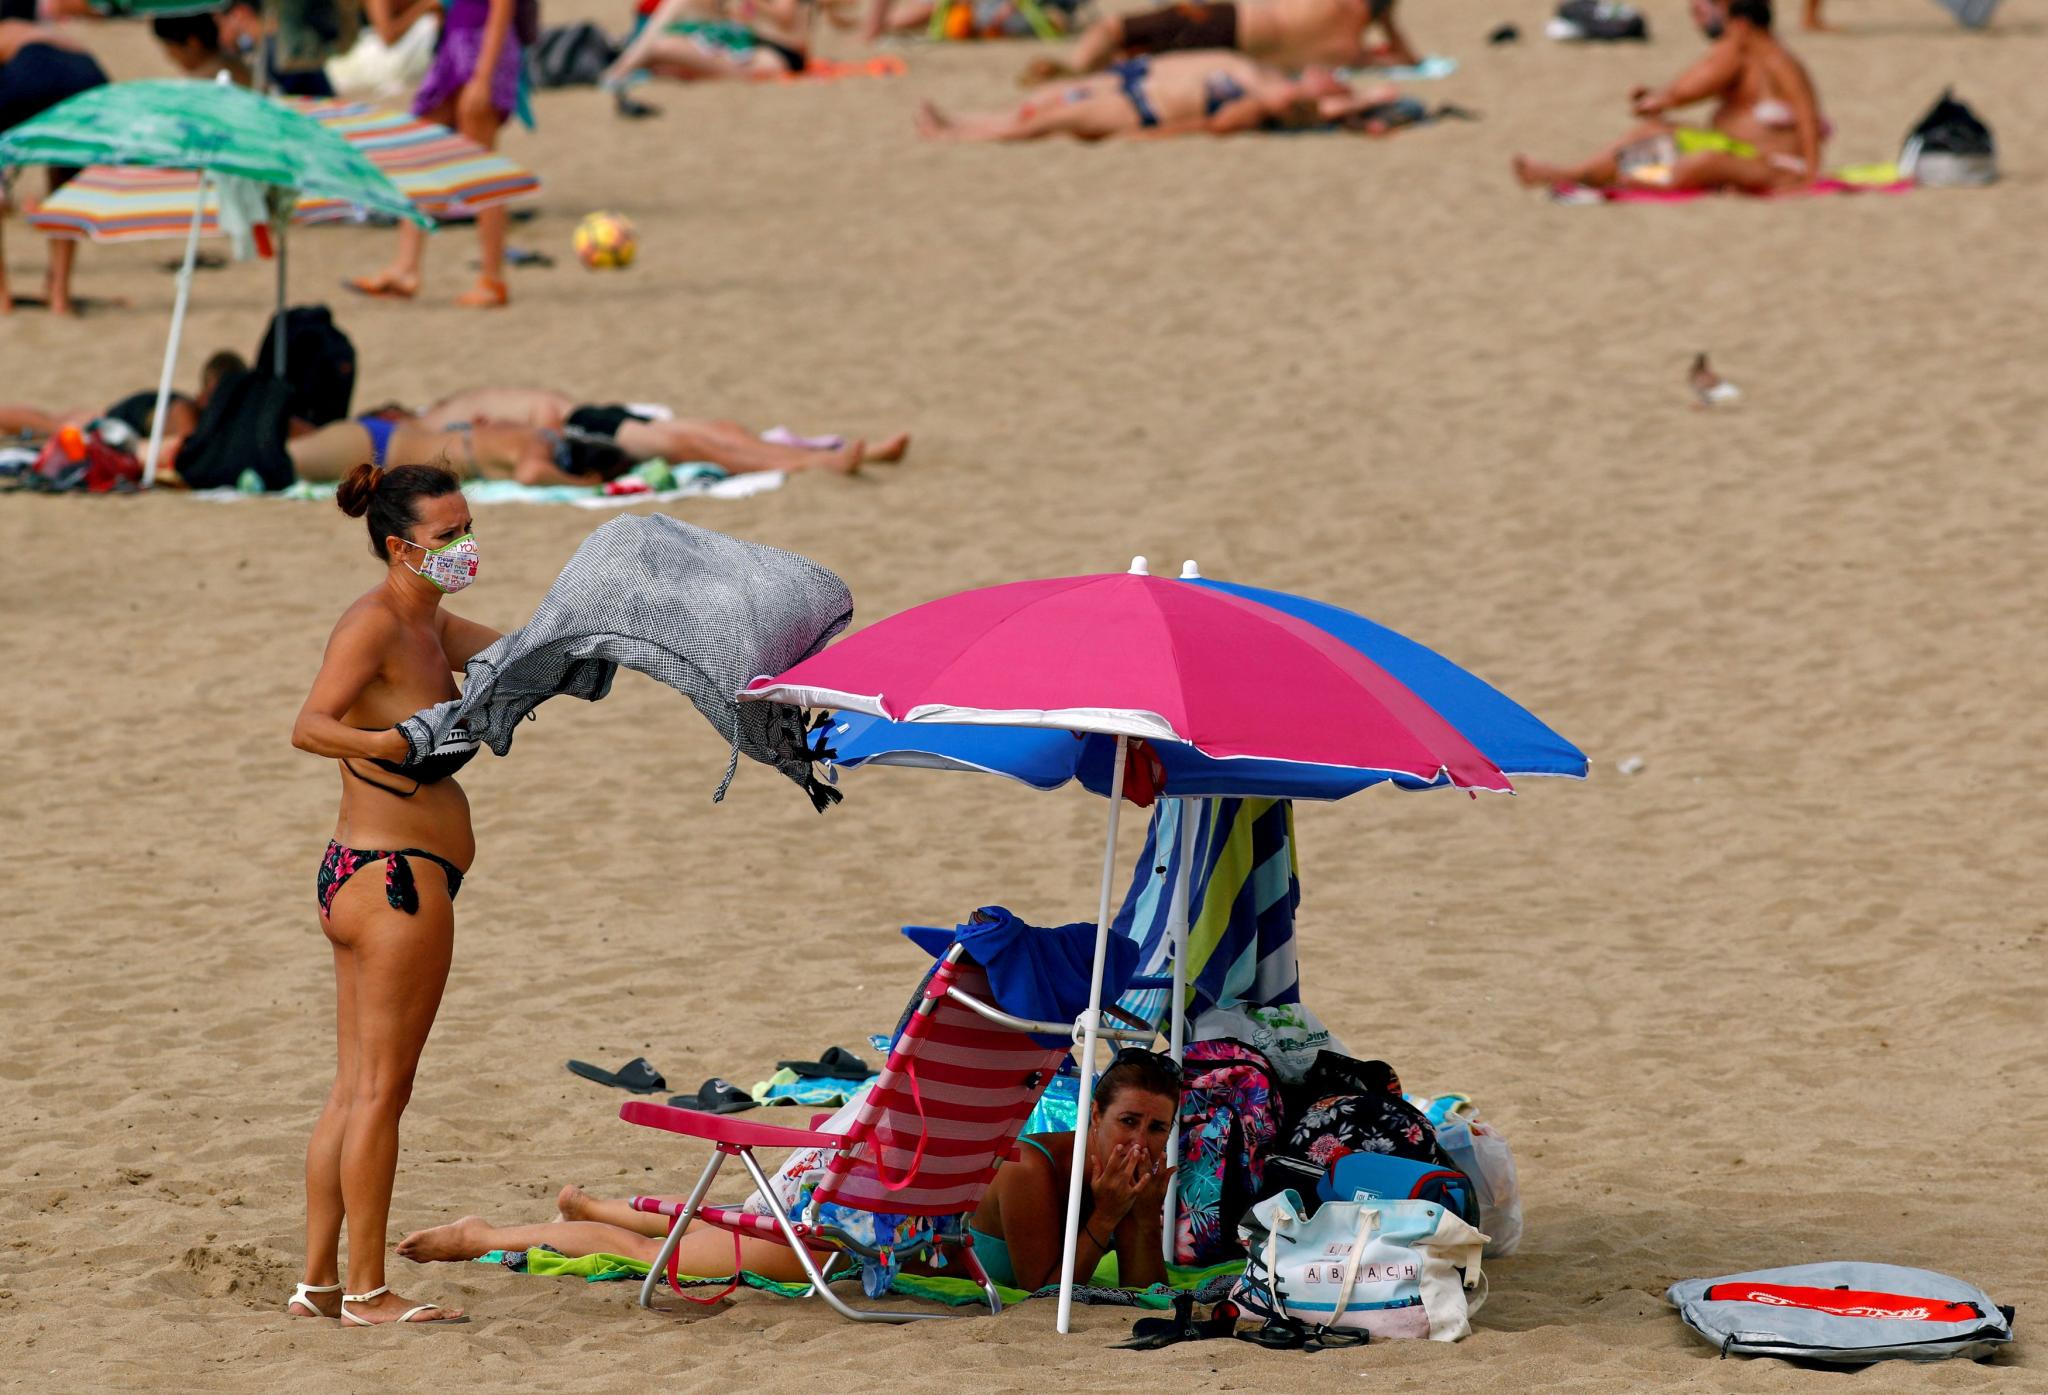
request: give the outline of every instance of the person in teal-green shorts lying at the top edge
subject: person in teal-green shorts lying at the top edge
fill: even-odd
[[[772,78],[811,66],[809,0],[643,0],[633,37],[600,86],[618,92],[645,68],[657,78]]]

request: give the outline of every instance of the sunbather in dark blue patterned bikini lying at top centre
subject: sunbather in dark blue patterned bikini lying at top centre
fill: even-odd
[[[936,141],[1034,141],[1044,135],[1100,141],[1298,131],[1366,117],[1372,107],[1399,96],[1391,86],[1354,90],[1327,68],[1290,78],[1243,53],[1202,49],[1133,57],[1110,72],[1051,82],[1012,111],[948,117],[924,102],[918,109],[918,131]]]

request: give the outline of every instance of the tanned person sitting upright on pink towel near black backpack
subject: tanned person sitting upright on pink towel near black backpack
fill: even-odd
[[[1645,125],[1583,164],[1516,156],[1530,188],[1743,188],[1769,193],[1821,176],[1827,123],[1806,68],[1772,35],[1772,0],[1692,0],[1692,16],[1714,47],[1667,88],[1630,92]],[[1665,113],[1714,102],[1708,127],[1675,125]]]

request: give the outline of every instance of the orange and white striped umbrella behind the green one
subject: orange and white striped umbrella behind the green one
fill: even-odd
[[[541,180],[530,170],[444,125],[369,102],[301,98],[285,104],[348,141],[428,217],[469,217],[477,209],[541,191]],[[195,170],[90,166],[31,213],[29,223],[45,236],[92,242],[182,238],[190,231],[197,197]],[[360,217],[362,209],[346,199],[305,193],[291,221],[336,223]],[[201,231],[219,234],[211,186]]]

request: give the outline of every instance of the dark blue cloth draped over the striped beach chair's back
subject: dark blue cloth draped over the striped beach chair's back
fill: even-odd
[[[961,944],[989,971],[995,1006],[1034,1022],[1071,1022],[1087,1012],[1090,975],[1096,969],[1096,926],[1032,926],[1001,905],[983,905],[977,920],[952,930],[903,926],[911,944],[934,959]],[[1102,969],[1102,1002],[1114,1004],[1137,973],[1139,946],[1112,934]],[[1071,1037],[1034,1034],[1042,1047],[1065,1047]]]

